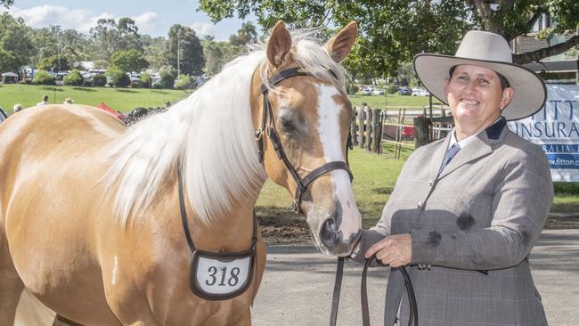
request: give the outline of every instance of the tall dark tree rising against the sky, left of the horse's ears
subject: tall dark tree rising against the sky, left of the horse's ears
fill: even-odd
[[[201,69],[205,66],[199,37],[195,35],[193,29],[179,24],[169,29],[165,57],[169,65],[188,75],[200,75]],[[179,67],[177,67],[177,61],[179,61]]]

